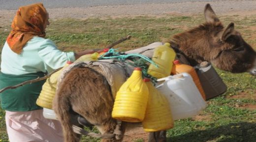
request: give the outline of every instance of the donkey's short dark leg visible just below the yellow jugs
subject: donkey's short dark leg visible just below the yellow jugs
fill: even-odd
[[[157,141],[156,141],[157,140]],[[149,133],[148,142],[166,142],[166,131],[158,131]]]

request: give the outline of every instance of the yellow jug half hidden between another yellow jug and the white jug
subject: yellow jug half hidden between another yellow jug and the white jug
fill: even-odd
[[[150,79],[144,81],[149,90],[148,106],[142,121],[144,131],[156,132],[172,128],[174,122],[168,100],[153,86]]]

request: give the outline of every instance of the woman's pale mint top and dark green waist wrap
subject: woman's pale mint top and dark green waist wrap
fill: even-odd
[[[13,52],[5,43],[1,53],[0,89],[42,77],[47,72],[63,67],[67,61],[75,61],[74,52],[60,51],[49,39],[33,37],[23,47],[21,54]],[[43,83],[44,80],[0,93],[2,109],[8,111],[41,109],[35,102]]]

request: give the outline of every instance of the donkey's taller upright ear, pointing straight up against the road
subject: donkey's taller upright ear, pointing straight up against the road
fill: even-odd
[[[216,23],[220,21],[209,3],[205,5],[204,17],[207,23]]]

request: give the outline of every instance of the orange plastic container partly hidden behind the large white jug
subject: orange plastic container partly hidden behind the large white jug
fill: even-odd
[[[181,64],[179,60],[173,61],[173,68],[171,74],[179,74],[183,72],[187,72],[193,78],[194,84],[196,85],[197,89],[199,90],[200,94],[202,95],[203,99],[206,100],[205,93],[203,91],[202,85],[200,83],[199,77],[194,70],[194,68],[190,65]]]

